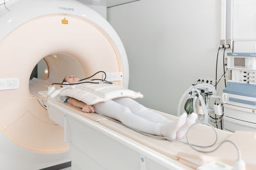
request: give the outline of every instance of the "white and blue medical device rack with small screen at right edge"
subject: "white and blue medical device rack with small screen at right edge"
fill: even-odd
[[[227,53],[227,87],[223,89],[224,129],[256,131],[256,53]]]

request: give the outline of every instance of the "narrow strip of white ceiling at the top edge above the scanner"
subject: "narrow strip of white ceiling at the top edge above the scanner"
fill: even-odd
[[[1,1],[1,0],[0,0]],[[134,1],[140,1],[140,0],[77,0],[84,4],[94,4],[94,5],[100,5],[100,6],[117,6],[120,4],[126,4],[126,3],[132,3]]]

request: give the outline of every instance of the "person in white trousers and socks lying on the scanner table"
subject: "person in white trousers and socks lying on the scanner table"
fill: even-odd
[[[76,83],[77,81],[79,81],[79,78],[74,75],[66,76],[63,79],[63,82],[67,83]],[[173,122],[129,97],[119,97],[93,105],[88,105],[68,96],[61,96],[61,101],[81,108],[86,113],[96,112],[106,117],[115,118],[138,131],[172,139],[181,139],[197,118],[195,113],[191,113],[188,118],[187,113],[183,113],[177,121]]]

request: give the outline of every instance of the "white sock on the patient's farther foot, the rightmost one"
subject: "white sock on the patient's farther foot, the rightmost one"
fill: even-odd
[[[191,113],[191,115],[187,118],[186,123],[177,131],[176,133],[176,139],[181,139],[183,138],[184,134],[188,131],[189,127],[192,124],[195,124],[197,118],[196,113]]]

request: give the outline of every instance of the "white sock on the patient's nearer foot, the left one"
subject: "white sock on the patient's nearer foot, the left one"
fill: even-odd
[[[167,124],[161,124],[160,134],[167,138],[176,139],[176,132],[182,127],[187,118],[187,113],[180,115],[179,120],[175,122],[169,122]],[[172,141],[172,140],[169,140]]]

